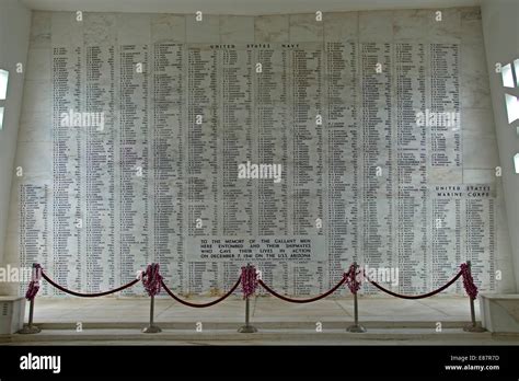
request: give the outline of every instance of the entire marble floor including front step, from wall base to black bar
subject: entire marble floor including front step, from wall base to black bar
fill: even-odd
[[[191,298],[206,302],[210,298]],[[251,323],[260,331],[239,334],[244,301],[230,297],[205,309],[185,307],[168,298],[155,300],[154,322],[162,333],[142,334],[149,322],[148,298],[38,297],[36,335],[0,337],[1,345],[519,345],[519,335],[466,333],[468,298],[422,300],[360,297],[359,321],[368,330],[346,332],[354,321],[351,298],[327,298],[308,304],[270,297],[251,300]],[[476,319],[478,305],[476,303]],[[28,318],[28,311],[26,311]],[[438,324],[441,330],[438,331]],[[81,330],[78,331],[78,327]]]

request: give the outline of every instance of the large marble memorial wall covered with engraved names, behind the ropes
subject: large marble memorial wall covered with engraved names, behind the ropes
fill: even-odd
[[[151,262],[183,293],[222,292],[253,263],[315,295],[353,261],[397,268],[405,293],[466,259],[505,289],[481,15],[441,12],[35,12],[8,255],[86,292]],[[247,162],[280,181],[239,178]]]

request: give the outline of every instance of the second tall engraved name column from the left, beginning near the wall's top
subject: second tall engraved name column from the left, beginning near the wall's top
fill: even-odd
[[[85,288],[89,292],[111,289],[115,285],[114,50],[114,46],[85,48],[85,112],[96,114],[99,122],[82,127],[85,137]]]

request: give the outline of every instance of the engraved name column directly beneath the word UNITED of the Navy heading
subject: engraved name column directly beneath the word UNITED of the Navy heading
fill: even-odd
[[[253,234],[253,189],[261,180],[240,178],[239,165],[253,162],[253,50],[244,44],[219,45],[218,94],[222,176],[220,232],[224,236]],[[240,273],[240,264],[220,262],[218,284],[229,289]]]

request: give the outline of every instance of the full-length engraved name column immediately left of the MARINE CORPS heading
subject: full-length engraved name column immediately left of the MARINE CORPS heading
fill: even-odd
[[[399,289],[420,293],[427,289],[427,141],[417,126],[425,113],[425,45],[394,45],[396,103],[396,247]]]

